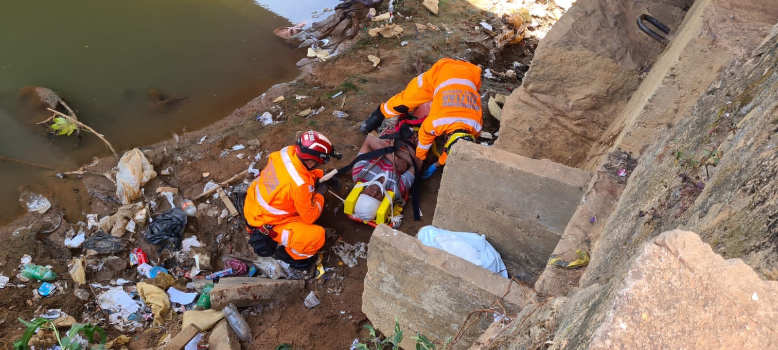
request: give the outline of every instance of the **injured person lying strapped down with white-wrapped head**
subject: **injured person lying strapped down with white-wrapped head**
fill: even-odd
[[[392,146],[390,139],[367,135],[359,154]],[[352,178],[356,187],[365,187],[359,194],[354,207],[357,219],[370,221],[376,213],[387,191],[394,193],[394,203],[405,204],[405,198],[415,180],[415,169],[421,169],[422,160],[416,157],[415,149],[401,143],[394,152],[382,156],[360,160],[352,169]]]

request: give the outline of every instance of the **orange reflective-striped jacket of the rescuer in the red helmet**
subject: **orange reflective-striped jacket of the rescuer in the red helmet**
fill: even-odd
[[[307,170],[289,146],[268,157],[268,166],[249,186],[244,216],[251,226],[286,222],[314,223],[324,208],[324,196],[314,191],[319,169]]]

